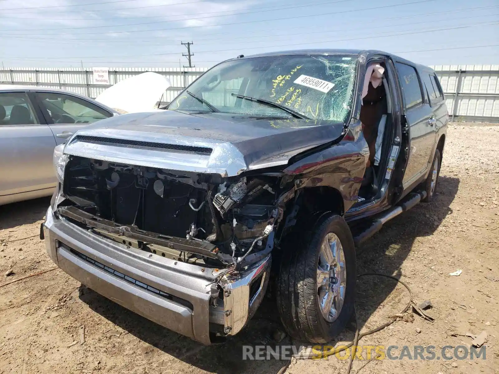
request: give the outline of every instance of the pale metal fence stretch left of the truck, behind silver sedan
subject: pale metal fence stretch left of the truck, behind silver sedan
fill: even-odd
[[[168,88],[163,101],[172,101],[178,93],[187,85],[192,83],[203,72],[208,70],[204,67],[180,68],[145,68],[145,67],[117,67],[109,68],[109,83],[113,85],[123,79],[146,71],[154,71],[164,75],[172,86]],[[0,70],[0,83],[21,84],[41,87],[61,88],[73,91],[95,99],[102,91],[110,85],[92,84],[92,69],[62,67],[62,68],[4,68]]]

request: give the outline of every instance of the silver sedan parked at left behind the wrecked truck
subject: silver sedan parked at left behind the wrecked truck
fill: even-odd
[[[0,85],[0,205],[52,194],[56,145],[118,112],[85,96]]]

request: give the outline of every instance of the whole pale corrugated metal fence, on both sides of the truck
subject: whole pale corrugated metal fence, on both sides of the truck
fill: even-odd
[[[438,65],[435,69],[445,93],[449,114],[456,121],[499,122],[499,65]],[[109,68],[109,85],[92,84],[92,69],[4,68],[0,83],[62,88],[91,98],[123,79],[154,71],[166,76],[172,86],[164,102],[177,94],[208,68]],[[455,105],[456,104],[456,105]]]

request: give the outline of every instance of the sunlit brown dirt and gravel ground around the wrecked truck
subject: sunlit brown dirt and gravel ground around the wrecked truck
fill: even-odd
[[[433,345],[438,354],[446,345],[470,347],[472,339],[452,336],[455,332],[486,331],[486,360],[368,362],[363,353],[352,373],[499,372],[499,127],[453,125],[447,139],[436,199],[390,221],[357,249],[359,273],[405,281],[417,303],[431,300],[427,312],[435,321],[414,314],[413,322],[395,322],[360,345],[396,345],[398,353],[406,345]],[[37,237],[48,204],[46,198],[0,206],[0,373],[275,374],[284,365],[274,359],[242,360],[242,345],[275,345],[275,330],[282,328],[270,301],[240,335],[204,347],[114,304],[59,269],[3,286],[54,267]],[[8,242],[24,237],[29,238]],[[461,275],[449,275],[458,269]],[[359,278],[358,289],[361,332],[389,321],[409,300],[404,287],[381,277]],[[354,330],[332,345],[353,340]],[[335,356],[293,359],[286,373],[345,373],[347,365]]]

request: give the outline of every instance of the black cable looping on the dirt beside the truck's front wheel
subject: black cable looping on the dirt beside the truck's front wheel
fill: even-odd
[[[411,307],[411,305],[414,304],[414,301],[412,299],[412,291],[411,289],[409,288],[409,286],[407,285],[407,283],[405,283],[404,281],[394,277],[393,275],[387,275],[387,274],[380,274],[380,273],[364,273],[364,274],[360,274],[357,276],[357,278],[360,278],[360,277],[365,277],[365,276],[368,276],[368,275],[374,275],[374,276],[379,276],[379,277],[385,277],[385,278],[390,278],[390,279],[394,279],[396,280],[398,283],[402,284],[406,289],[407,291],[409,292],[409,296],[410,296],[410,300],[409,302],[407,303],[407,305],[404,307],[404,309],[402,309],[402,311],[400,312],[400,314],[403,314],[405,312],[407,312],[407,310]],[[371,335],[371,334],[374,334],[374,333],[377,333],[378,331],[381,331],[383,330],[384,328],[390,326],[392,323],[394,323],[395,321],[397,321],[397,318],[396,317],[392,317],[392,319],[372,330],[369,330],[369,331],[366,331],[365,333],[362,333],[360,334],[360,331],[359,331],[359,320],[357,318],[357,310],[356,308],[354,307],[354,312],[355,312],[355,323],[357,324],[357,329],[355,331],[355,338],[352,342],[348,343],[346,346],[341,346],[341,348],[333,348],[329,351],[326,351],[326,352],[322,352],[320,354],[321,357],[323,358],[326,358],[326,357],[329,357],[329,356],[332,356],[332,355],[335,355],[337,353],[340,353],[340,352],[343,352],[343,351],[346,351],[348,348],[352,347],[352,346],[355,346],[357,347],[357,344],[359,342],[359,340],[367,335]],[[355,354],[355,353],[354,353]],[[352,370],[352,363],[353,363],[353,355],[350,355],[350,362],[349,362],[349,365],[348,365],[348,369],[347,369],[347,372],[346,374],[350,374],[351,370]],[[308,355],[293,355],[294,358],[298,359],[298,360],[309,360],[309,359],[315,359],[318,357],[317,354],[308,354]],[[277,374],[283,374],[287,368],[289,368],[289,365],[291,364],[291,360],[289,360],[288,362],[286,362],[286,364],[279,370],[279,372]]]

